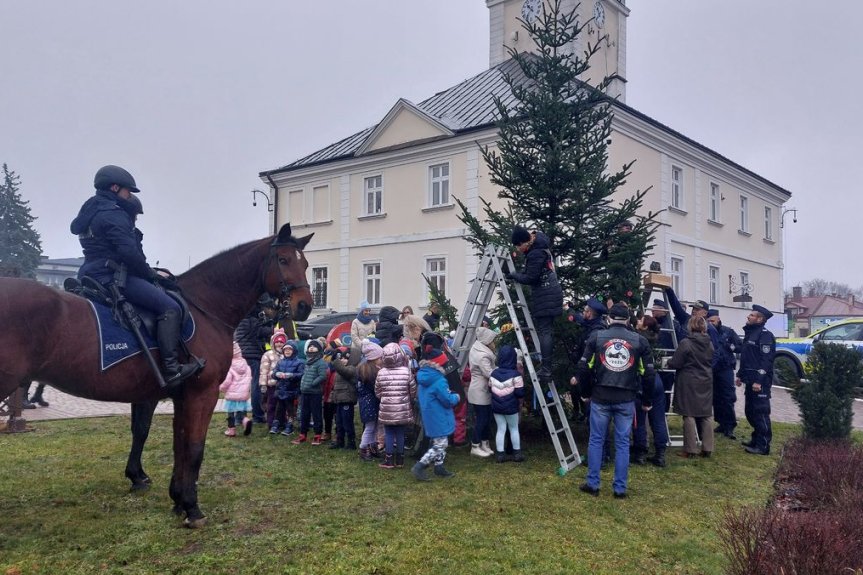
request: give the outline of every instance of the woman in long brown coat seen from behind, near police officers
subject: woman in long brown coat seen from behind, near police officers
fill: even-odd
[[[677,413],[683,416],[683,451],[678,455],[697,457],[700,435],[701,456],[710,457],[713,453],[713,344],[707,335],[707,320],[692,317],[689,334],[668,362],[668,367],[677,370],[674,405]]]

